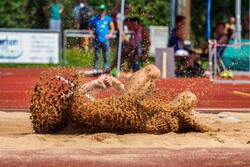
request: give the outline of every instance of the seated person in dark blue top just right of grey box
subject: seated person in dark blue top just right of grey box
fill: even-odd
[[[183,73],[198,74],[202,73],[203,69],[198,64],[200,55],[188,48],[184,44],[183,28],[186,25],[185,16],[177,16],[175,20],[175,27],[170,31],[168,47],[174,48],[175,59],[180,60],[181,64],[177,65],[177,75]],[[184,62],[183,62],[184,60]]]

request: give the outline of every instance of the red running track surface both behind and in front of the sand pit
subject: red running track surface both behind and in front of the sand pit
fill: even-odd
[[[28,111],[29,98],[43,69],[0,69],[0,111]],[[90,78],[92,79],[92,78]],[[207,78],[162,79],[157,87],[166,99],[190,89],[199,108],[249,108],[250,85],[217,85]],[[235,94],[233,91],[245,92]],[[103,92],[103,91],[102,91]],[[106,91],[103,95],[108,95]],[[10,111],[10,110],[9,110]],[[242,156],[243,155],[243,156]],[[0,150],[0,166],[250,166],[249,148],[88,148]]]

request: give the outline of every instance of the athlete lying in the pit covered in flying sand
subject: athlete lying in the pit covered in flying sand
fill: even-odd
[[[77,72],[68,77],[66,82],[57,80],[58,77],[53,75],[53,72],[43,75],[31,97],[31,119],[37,133],[58,132],[69,121],[111,132],[210,130],[198,123],[192,115],[192,109],[197,103],[193,93],[182,92],[167,104],[153,96],[160,71],[152,64],[135,72],[125,85],[106,74],[87,83],[82,83],[85,78],[77,75]],[[95,89],[110,87],[115,87],[119,95],[96,100],[88,95]]]

